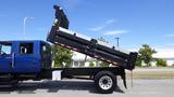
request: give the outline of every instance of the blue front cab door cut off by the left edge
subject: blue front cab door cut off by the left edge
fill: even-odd
[[[0,73],[11,73],[12,68],[12,43],[0,42]]]

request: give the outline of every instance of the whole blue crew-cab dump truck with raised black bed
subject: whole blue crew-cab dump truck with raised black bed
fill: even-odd
[[[16,86],[18,81],[51,80],[52,72],[59,71],[59,79],[88,75],[99,93],[112,93],[116,77],[121,75],[126,87],[125,69],[133,70],[136,52],[125,52],[107,45],[96,39],[69,30],[69,19],[62,8],[54,5],[55,19],[46,41],[0,41],[0,85]],[[52,68],[51,45],[60,45],[83,53],[113,67]],[[84,59],[86,60],[86,59]]]

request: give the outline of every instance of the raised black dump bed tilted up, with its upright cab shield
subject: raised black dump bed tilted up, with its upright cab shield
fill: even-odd
[[[123,51],[96,39],[82,36],[69,29],[69,19],[60,6],[54,6],[55,19],[47,40],[51,43],[83,53],[87,56],[132,70],[135,68],[136,52]]]

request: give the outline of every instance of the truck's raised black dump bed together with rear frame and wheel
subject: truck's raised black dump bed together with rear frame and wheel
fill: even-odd
[[[96,88],[100,93],[112,93],[114,91],[117,84],[116,75],[121,75],[126,87],[125,69],[133,70],[135,68],[137,53],[125,52],[115,46],[108,46],[108,44],[101,41],[69,30],[69,19],[62,8],[54,5],[54,9],[55,19],[47,41],[107,61],[116,67],[52,68],[50,70],[61,70],[62,78],[89,75],[95,81]]]

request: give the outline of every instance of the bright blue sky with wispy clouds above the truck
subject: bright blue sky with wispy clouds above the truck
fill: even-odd
[[[174,0],[1,0],[0,41],[46,40],[61,5],[70,29],[120,47],[174,50]],[[24,18],[26,20],[24,34]]]

